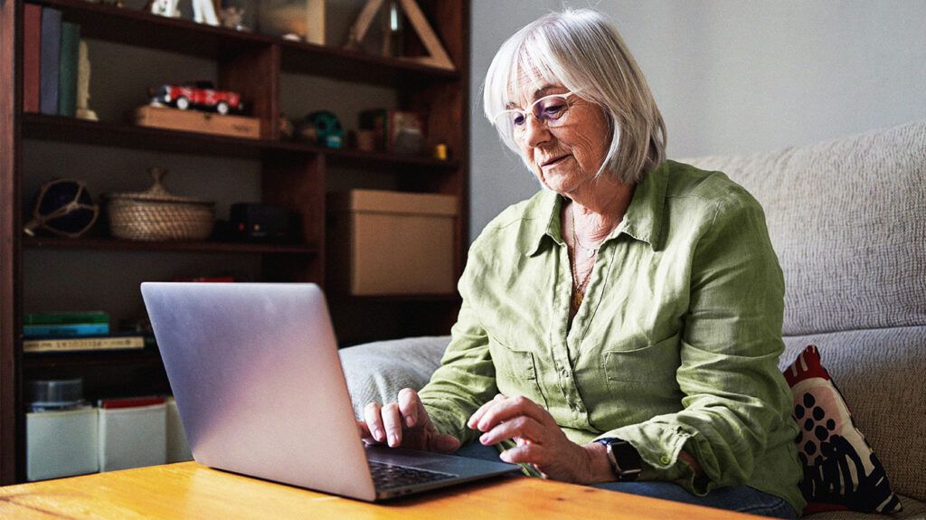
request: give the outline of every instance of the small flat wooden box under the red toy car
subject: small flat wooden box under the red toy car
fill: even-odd
[[[260,139],[260,119],[243,116],[222,116],[196,110],[144,105],[139,106],[132,113],[132,122],[139,126],[158,129],[197,131]]]

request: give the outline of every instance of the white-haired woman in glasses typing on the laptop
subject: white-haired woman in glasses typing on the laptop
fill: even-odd
[[[484,107],[543,190],[472,244],[442,366],[370,403],[365,439],[794,517],[782,271],[756,200],[665,159],[643,74],[594,11],[512,36]]]

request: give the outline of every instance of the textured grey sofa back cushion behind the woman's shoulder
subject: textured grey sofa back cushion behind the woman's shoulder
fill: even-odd
[[[926,325],[926,121],[686,162],[725,172],[765,209],[784,334]]]

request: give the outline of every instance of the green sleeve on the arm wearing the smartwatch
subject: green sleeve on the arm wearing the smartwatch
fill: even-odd
[[[644,478],[676,481],[703,495],[745,483],[766,451],[768,432],[790,420],[790,394],[777,365],[782,271],[762,209],[745,191],[717,204],[694,246],[690,287],[676,373],[682,411],[600,437],[629,441],[646,463]],[[707,478],[695,480],[678,458],[682,449]]]

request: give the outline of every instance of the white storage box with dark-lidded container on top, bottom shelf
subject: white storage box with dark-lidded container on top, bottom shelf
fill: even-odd
[[[70,477],[98,469],[96,409],[26,414],[26,479]]]

